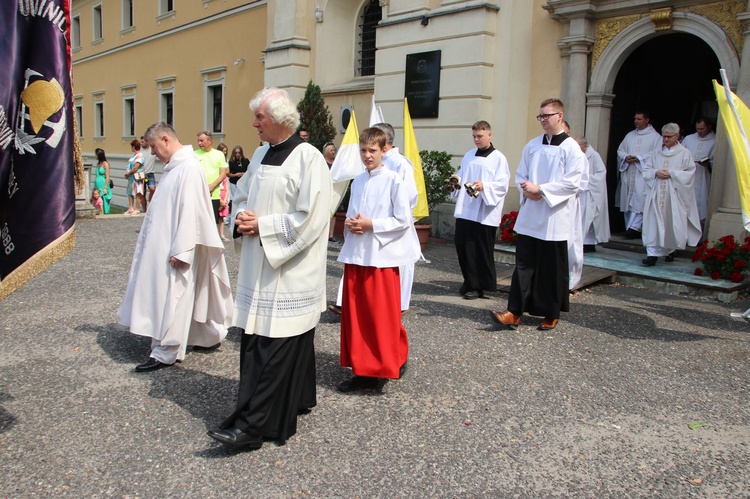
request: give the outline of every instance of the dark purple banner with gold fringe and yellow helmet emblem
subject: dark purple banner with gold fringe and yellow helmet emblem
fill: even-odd
[[[75,235],[70,0],[0,2],[0,299]]]

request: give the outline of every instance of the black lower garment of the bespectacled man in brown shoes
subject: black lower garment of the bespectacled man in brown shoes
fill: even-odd
[[[559,319],[570,308],[568,242],[518,235],[508,310]]]

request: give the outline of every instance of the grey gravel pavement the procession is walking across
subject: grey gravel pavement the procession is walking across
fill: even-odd
[[[729,317],[747,300],[599,285],[554,331],[528,316],[506,331],[488,310],[507,295],[461,299],[455,251],[433,243],[404,316],[405,378],[338,393],[326,312],[318,406],[284,445],[235,452],[206,431],[234,407],[236,329],[133,371],[149,339],[116,312],[141,220],[79,221],[74,251],[0,302],[0,496],[750,497],[750,324]]]

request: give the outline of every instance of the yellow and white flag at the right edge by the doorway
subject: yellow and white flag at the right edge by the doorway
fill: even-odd
[[[746,133],[750,127],[750,109],[729,89],[726,71],[722,69],[720,72],[724,87],[713,80],[714,91],[729,145],[734,153],[742,205],[742,225],[746,231],[750,231],[750,143]]]

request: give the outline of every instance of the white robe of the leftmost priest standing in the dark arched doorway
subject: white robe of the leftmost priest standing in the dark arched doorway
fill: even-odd
[[[615,193],[615,206],[623,212],[643,213],[646,200],[646,184],[643,181],[643,164],[646,157],[659,149],[662,144],[661,135],[648,125],[643,130],[628,132],[620,147],[617,148],[617,165],[620,172],[620,182]],[[628,164],[627,156],[635,156],[638,161]]]

